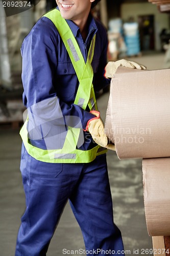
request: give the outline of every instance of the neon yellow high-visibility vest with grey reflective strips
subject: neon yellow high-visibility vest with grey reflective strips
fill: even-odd
[[[74,104],[80,105],[84,110],[86,109],[87,105],[89,106],[90,110],[97,110],[92,85],[93,70],[91,67],[91,61],[94,54],[95,35],[91,41],[87,61],[85,63],[77,41],[66,23],[66,20],[61,17],[59,10],[54,9],[46,13],[44,16],[51,19],[56,26],[77,74],[79,88]],[[80,135],[80,128],[70,126],[68,126],[65,142],[61,149],[43,150],[29,143],[27,122],[28,119],[22,126],[20,136],[29,155],[39,161],[48,163],[88,163],[93,161],[96,156],[107,152],[106,148],[99,145],[88,151],[77,149],[76,146]]]

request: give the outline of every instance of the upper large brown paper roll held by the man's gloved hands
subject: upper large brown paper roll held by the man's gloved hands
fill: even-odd
[[[119,67],[105,133],[119,159],[170,157],[170,70]]]

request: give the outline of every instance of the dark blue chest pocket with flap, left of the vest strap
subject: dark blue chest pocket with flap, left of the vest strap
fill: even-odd
[[[74,101],[78,78],[71,62],[58,62],[57,67],[57,95],[63,101]]]

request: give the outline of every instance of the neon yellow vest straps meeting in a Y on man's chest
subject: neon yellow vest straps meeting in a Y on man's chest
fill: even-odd
[[[93,106],[89,101],[89,99],[92,97],[95,104],[95,110],[97,110],[94,90],[92,86],[93,70],[91,67],[91,61],[94,55],[95,35],[91,41],[87,61],[85,63],[76,38],[72,34],[72,31],[66,20],[61,17],[60,11],[54,9],[46,13],[44,16],[51,19],[56,26],[80,82],[74,103],[80,105],[83,109],[86,109],[88,104],[89,108],[92,109]]]

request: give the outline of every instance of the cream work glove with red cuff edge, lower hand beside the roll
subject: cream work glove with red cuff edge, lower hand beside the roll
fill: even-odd
[[[86,130],[91,134],[91,137],[100,146],[106,147],[109,150],[115,150],[114,144],[108,144],[108,138],[104,132],[104,124],[100,118],[100,112],[90,111],[95,117],[87,122]]]

